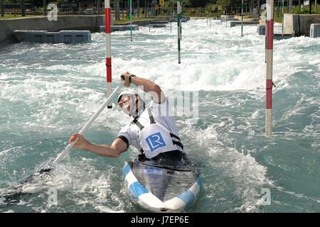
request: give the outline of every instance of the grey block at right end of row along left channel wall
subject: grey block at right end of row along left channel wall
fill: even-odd
[[[59,32],[60,43],[85,43],[91,40],[90,31],[63,30]]]

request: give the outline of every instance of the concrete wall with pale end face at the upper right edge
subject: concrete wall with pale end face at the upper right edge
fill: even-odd
[[[309,36],[311,23],[320,23],[320,14],[284,13],[284,34]]]

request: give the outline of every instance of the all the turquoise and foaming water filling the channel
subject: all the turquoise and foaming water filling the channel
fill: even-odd
[[[191,212],[320,211],[320,38],[274,41],[273,136],[265,137],[265,37],[255,26],[183,23],[112,33],[114,87],[124,71],[158,83],[167,96],[198,92],[198,121],[176,116],[186,153],[203,172]],[[281,27],[277,26],[276,31]],[[105,34],[81,45],[19,43],[0,50],[0,191],[52,161],[106,97]],[[85,133],[110,144],[130,121],[105,110]],[[142,212],[122,184],[119,159],[73,150],[50,176],[24,184],[1,212]],[[48,190],[57,205],[48,206]],[[263,201],[270,190],[270,205]],[[0,204],[4,202],[0,201]]]

